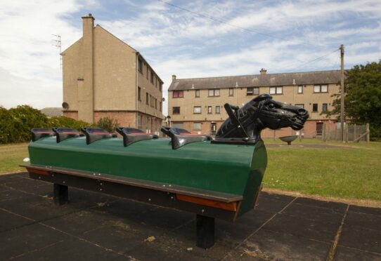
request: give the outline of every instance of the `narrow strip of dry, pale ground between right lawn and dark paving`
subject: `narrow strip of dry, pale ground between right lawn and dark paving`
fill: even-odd
[[[349,205],[354,206],[365,206],[370,208],[381,208],[381,201],[375,201],[370,199],[340,199],[333,196],[319,196],[319,195],[310,195],[310,194],[303,194],[300,192],[288,192],[280,189],[270,189],[264,187],[262,191],[272,194],[283,194],[287,196],[297,196],[302,198],[308,198],[308,199],[316,199],[321,201],[332,201],[332,202],[339,202],[339,203],[346,203]]]

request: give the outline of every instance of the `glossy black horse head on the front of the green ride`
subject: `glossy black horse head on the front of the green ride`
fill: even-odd
[[[212,142],[257,142],[264,128],[300,130],[309,117],[305,109],[276,102],[269,94],[258,95],[242,108],[228,103],[224,107],[229,118],[222,123]]]

